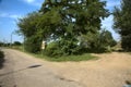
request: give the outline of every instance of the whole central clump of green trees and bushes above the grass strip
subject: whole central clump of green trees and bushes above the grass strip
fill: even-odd
[[[116,41],[100,27],[109,16],[105,7],[100,0],[45,0],[39,11],[19,20],[25,50],[39,52],[45,40],[51,57],[110,51]]]

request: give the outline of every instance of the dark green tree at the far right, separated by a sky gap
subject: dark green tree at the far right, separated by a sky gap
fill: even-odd
[[[131,51],[131,1],[122,0],[120,8],[114,11],[114,28],[121,35],[121,46],[126,51]]]

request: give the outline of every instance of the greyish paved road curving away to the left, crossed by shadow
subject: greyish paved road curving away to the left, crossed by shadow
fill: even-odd
[[[38,59],[16,50],[2,50],[5,63],[0,70],[0,87],[82,87],[76,82],[56,75]]]

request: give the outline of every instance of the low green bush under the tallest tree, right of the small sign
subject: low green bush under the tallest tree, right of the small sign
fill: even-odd
[[[69,40],[59,40],[53,41],[47,45],[45,54],[49,57],[61,57],[61,55],[71,55],[80,54],[81,48],[73,41]]]

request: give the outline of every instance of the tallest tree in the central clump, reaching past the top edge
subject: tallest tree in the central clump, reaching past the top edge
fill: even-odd
[[[59,40],[58,50],[67,54],[78,53],[76,51],[80,51],[76,48],[80,42],[78,38],[88,33],[98,34],[100,18],[108,16],[105,4],[99,0],[45,0],[39,11],[44,14],[44,21],[47,18],[48,24],[40,25],[44,26],[43,28],[48,26],[53,30],[50,35]],[[90,39],[94,40],[92,37]]]

